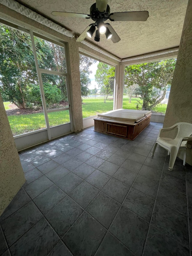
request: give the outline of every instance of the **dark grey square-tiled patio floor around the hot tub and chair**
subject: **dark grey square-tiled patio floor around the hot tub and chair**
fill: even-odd
[[[1,255],[190,255],[192,168],[134,140],[94,132],[20,152],[26,183],[0,217]]]

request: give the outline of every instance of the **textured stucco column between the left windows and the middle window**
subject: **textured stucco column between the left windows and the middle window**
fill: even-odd
[[[75,40],[70,40],[68,44],[69,54],[69,80],[71,95],[71,110],[73,118],[73,131],[83,130],[82,102],[81,102],[81,83],[79,71],[79,47]]]

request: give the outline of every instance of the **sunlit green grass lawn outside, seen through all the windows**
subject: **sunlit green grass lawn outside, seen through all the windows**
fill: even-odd
[[[113,99],[111,98],[112,97],[110,96],[106,103],[104,103],[103,98],[83,98],[83,118],[113,110]],[[139,98],[132,98],[131,103],[129,103],[128,98],[123,98],[123,108],[136,109],[138,99]],[[10,102],[4,102],[6,110],[9,109],[9,104]],[[167,104],[159,104],[158,107],[156,107],[156,112],[165,113],[166,107]],[[70,122],[68,110],[48,113],[48,118],[50,127]],[[13,115],[8,116],[8,119],[13,135],[19,135],[46,128],[43,113]]]

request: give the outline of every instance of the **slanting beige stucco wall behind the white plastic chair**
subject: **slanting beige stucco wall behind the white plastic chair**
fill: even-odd
[[[164,127],[178,122],[192,123],[192,0],[185,15]],[[186,161],[192,165],[192,149],[187,149]]]

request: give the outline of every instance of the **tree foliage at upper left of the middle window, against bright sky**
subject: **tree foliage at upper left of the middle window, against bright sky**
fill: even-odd
[[[89,75],[92,73],[92,70],[90,69],[90,67],[93,63],[96,63],[95,59],[91,59],[85,55],[79,54],[79,70],[80,70],[82,97],[86,97],[89,92],[88,87],[91,83]]]

